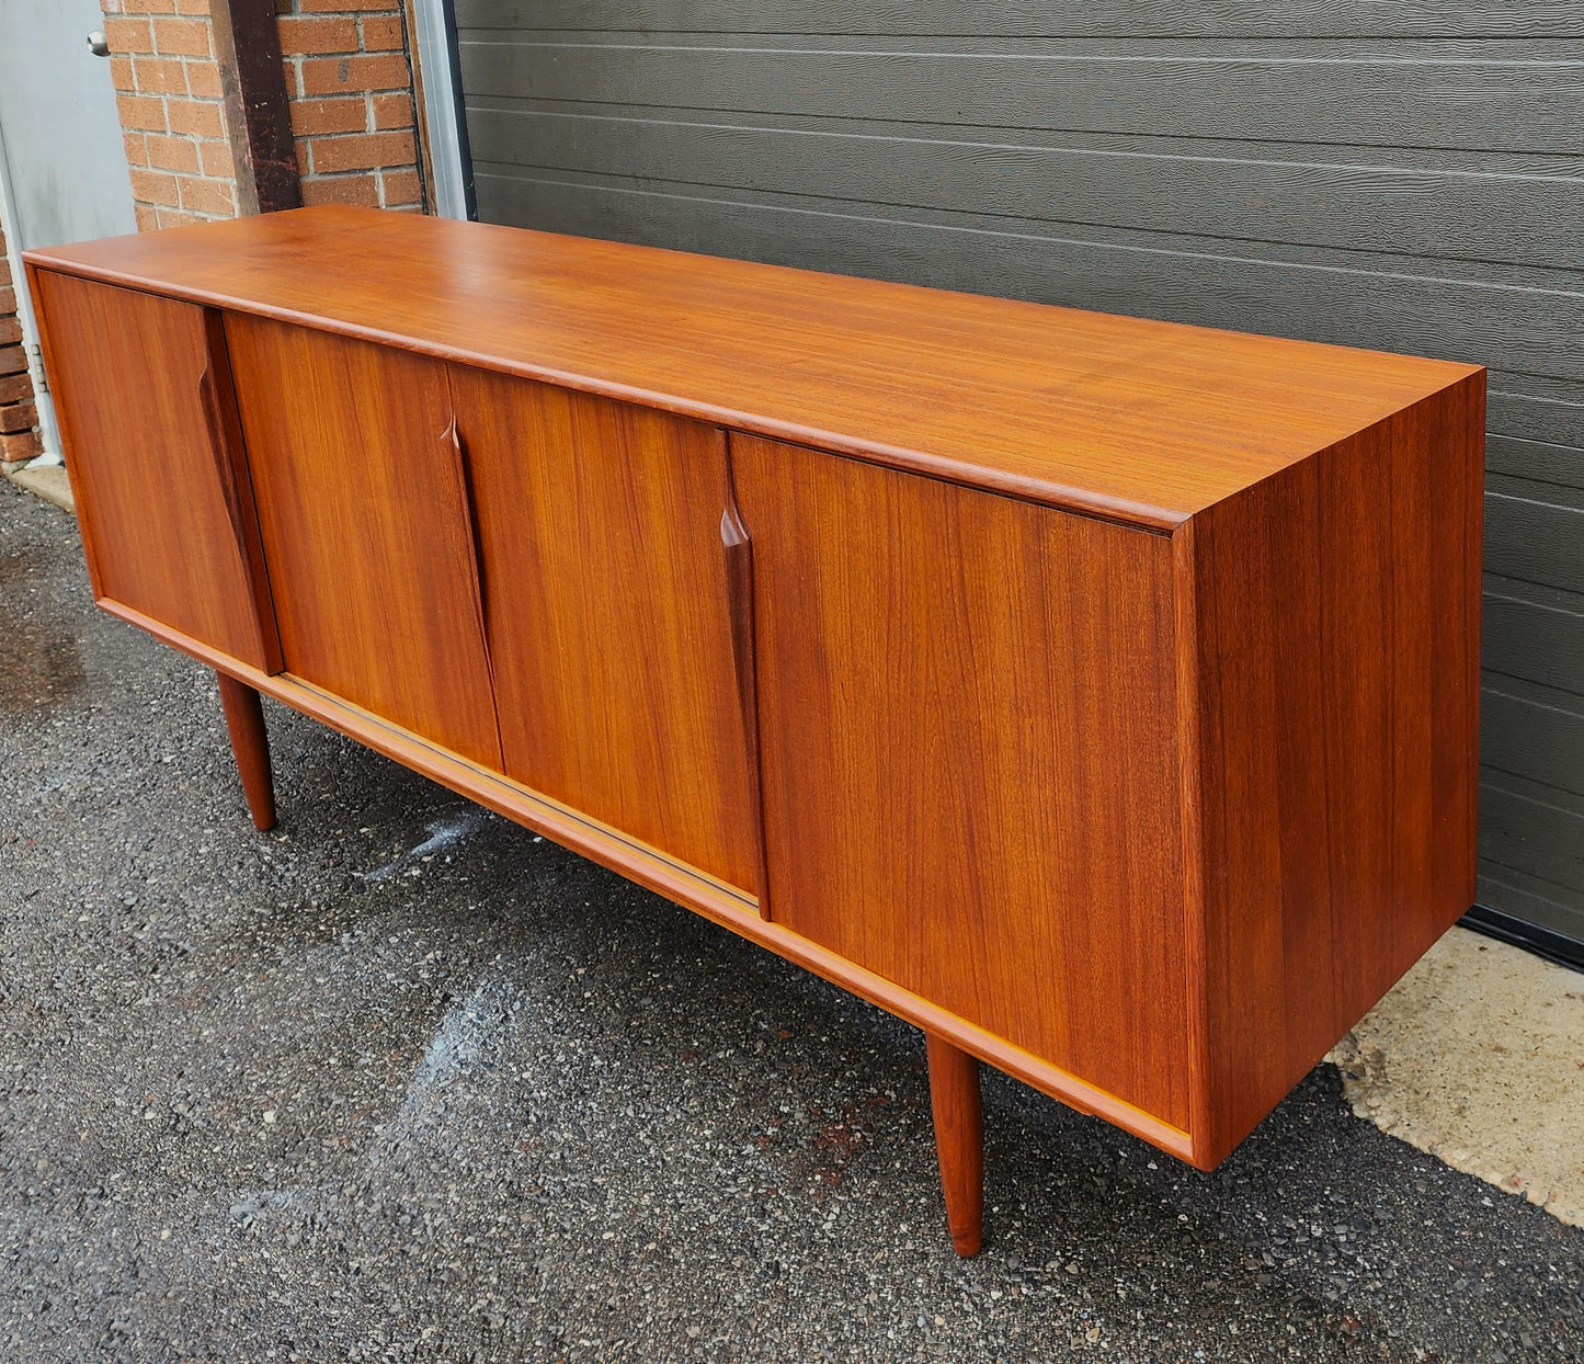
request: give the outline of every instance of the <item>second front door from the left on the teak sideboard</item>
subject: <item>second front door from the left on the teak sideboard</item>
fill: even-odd
[[[287,672],[499,770],[445,366],[227,315]]]

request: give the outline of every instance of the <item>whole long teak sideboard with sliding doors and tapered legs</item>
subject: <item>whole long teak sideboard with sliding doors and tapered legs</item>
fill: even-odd
[[[27,257],[98,604],[1209,1169],[1472,903],[1484,371],[315,208]]]

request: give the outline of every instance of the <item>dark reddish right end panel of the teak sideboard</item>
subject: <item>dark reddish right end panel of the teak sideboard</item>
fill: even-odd
[[[1473,901],[1483,407],[1476,374],[1191,523],[1196,1164]]]

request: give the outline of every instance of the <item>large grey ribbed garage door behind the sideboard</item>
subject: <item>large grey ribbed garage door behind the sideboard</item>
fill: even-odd
[[[488,222],[1487,364],[1479,895],[1584,939],[1584,0],[455,5]]]

